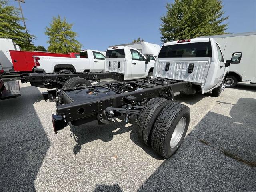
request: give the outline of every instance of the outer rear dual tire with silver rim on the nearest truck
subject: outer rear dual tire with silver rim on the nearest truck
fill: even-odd
[[[151,134],[151,147],[169,158],[180,147],[190,122],[190,109],[180,103],[168,104],[158,115]]]

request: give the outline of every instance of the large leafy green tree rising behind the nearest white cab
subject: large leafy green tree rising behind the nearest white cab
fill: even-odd
[[[162,42],[227,34],[227,17],[221,0],[175,0],[166,5],[166,16],[162,16],[160,33]]]

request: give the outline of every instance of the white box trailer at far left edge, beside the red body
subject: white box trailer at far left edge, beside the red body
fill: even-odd
[[[20,46],[12,39],[0,38],[0,64],[5,72],[14,71],[10,50],[20,51]]]

